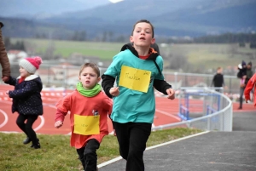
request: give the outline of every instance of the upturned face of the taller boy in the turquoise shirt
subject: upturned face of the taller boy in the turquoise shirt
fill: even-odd
[[[148,23],[137,23],[133,31],[133,36],[130,37],[130,41],[134,46],[148,48],[150,44],[154,43],[152,33],[152,28]]]

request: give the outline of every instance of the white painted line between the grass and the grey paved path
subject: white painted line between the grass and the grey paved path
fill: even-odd
[[[201,133],[198,133],[198,134],[191,134],[189,136],[185,136],[185,137],[177,139],[177,140],[171,140],[171,141],[159,144],[159,145],[149,146],[148,148],[146,148],[146,151],[154,149],[154,148],[157,148],[157,147],[160,147],[160,146],[163,146],[163,145],[169,145],[169,144],[175,143],[175,142],[180,141],[180,140],[186,140],[186,139],[189,139],[189,138],[192,138],[192,137],[195,137],[195,136],[199,136],[201,134],[207,134],[209,132],[210,131],[204,131],[204,132],[201,132]],[[122,159],[122,157],[116,157],[116,158],[113,158],[113,159],[111,159],[111,160],[109,160],[107,162],[102,162],[101,164],[97,165],[97,167],[98,168],[102,168],[102,167],[107,166],[108,164],[111,164],[113,162],[118,162],[121,159]]]

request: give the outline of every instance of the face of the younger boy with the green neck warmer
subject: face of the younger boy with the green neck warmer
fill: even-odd
[[[99,83],[100,80],[101,77],[98,77],[96,71],[90,66],[85,67],[79,76],[79,81],[83,84],[84,89],[94,88],[96,83]]]

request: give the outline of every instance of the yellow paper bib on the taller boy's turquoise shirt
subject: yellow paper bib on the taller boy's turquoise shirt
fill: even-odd
[[[122,66],[119,86],[147,93],[150,77],[151,71]]]

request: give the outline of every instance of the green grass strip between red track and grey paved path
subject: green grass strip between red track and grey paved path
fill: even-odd
[[[190,128],[155,131],[150,135],[147,146],[200,132],[201,130]],[[38,134],[41,143],[41,149],[38,150],[30,148],[30,145],[23,145],[24,138],[24,134],[0,133],[1,171],[71,171],[82,168],[75,149],[69,145],[69,136]],[[106,136],[97,155],[98,164],[118,157],[119,146],[116,137]]]

